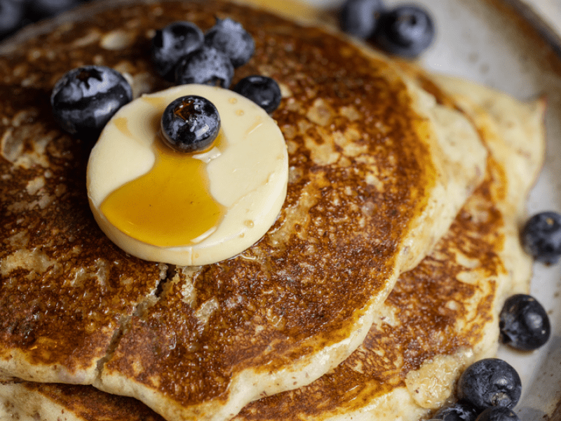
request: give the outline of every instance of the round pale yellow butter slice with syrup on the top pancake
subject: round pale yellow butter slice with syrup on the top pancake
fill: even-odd
[[[200,154],[172,152],[159,137],[163,110],[184,95],[210,100],[222,121]],[[137,258],[183,266],[252,246],[275,222],[287,183],[288,154],[275,121],[247,98],[204,85],[175,86],[122,107],[92,149],[86,181],[90,208],[111,241]]]

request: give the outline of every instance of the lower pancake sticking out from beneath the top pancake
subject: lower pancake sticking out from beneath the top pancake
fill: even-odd
[[[543,160],[543,102],[407,72],[476,122],[491,152],[485,180],[432,253],[400,276],[356,352],[311,385],[250,403],[234,420],[428,417],[452,399],[466,366],[495,354],[503,301],[529,289],[532,259],[518,226]],[[0,385],[0,396],[6,417],[22,421],[163,420],[138,401],[93,387],[11,382]]]

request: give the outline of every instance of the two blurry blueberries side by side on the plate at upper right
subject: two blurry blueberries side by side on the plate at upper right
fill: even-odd
[[[339,22],[344,32],[403,58],[417,58],[435,34],[433,18],[424,8],[402,4],[387,9],[381,0],[346,0]]]

